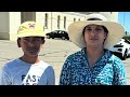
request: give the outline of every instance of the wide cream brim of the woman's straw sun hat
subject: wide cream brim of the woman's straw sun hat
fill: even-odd
[[[108,34],[104,42],[104,48],[112,47],[114,44],[119,42],[119,40],[125,36],[125,28],[116,22],[107,22],[107,20],[75,22],[68,26],[68,36],[70,41],[81,48],[86,47],[82,30],[87,25],[90,24],[102,25],[107,28]]]

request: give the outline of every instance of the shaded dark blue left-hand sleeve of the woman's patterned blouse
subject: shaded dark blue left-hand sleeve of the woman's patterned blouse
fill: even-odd
[[[62,68],[60,75],[60,85],[70,85],[72,82],[72,64],[70,57],[68,57]]]

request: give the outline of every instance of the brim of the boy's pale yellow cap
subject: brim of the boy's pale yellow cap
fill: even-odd
[[[21,31],[18,34],[17,34],[17,38],[23,38],[23,37],[46,37],[46,34],[42,32],[42,31]]]

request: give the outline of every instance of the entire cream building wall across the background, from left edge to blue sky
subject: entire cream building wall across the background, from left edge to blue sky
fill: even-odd
[[[108,20],[118,22],[118,12],[99,12],[106,16]],[[44,18],[48,14],[48,28],[44,27]],[[88,14],[88,12],[87,12]],[[57,30],[57,16],[60,29],[66,30],[67,27],[77,20],[86,20],[87,14],[76,12],[0,12],[0,39],[16,40],[17,28],[25,20],[36,20],[43,26],[44,32]],[[66,16],[66,28],[64,28],[64,16]]]

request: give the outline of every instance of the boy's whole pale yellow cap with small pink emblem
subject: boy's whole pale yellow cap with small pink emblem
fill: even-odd
[[[23,37],[46,37],[43,26],[36,22],[25,22],[17,30],[17,38]]]

